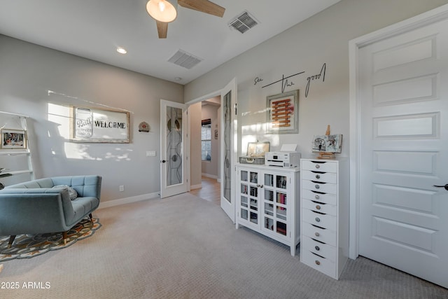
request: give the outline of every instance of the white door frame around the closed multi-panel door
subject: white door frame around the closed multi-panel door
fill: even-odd
[[[421,13],[394,25],[379,29],[370,34],[349,41],[349,83],[350,83],[350,246],[349,257],[359,256],[359,176],[360,176],[360,107],[358,98],[358,53],[364,46],[387,39],[388,37],[409,32],[448,18],[448,4]]]

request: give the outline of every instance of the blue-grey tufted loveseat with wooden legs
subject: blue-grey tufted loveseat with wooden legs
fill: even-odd
[[[0,235],[67,231],[99,206],[101,176],[57,176],[18,183],[0,190]],[[55,187],[56,186],[56,187]],[[77,197],[71,200],[70,188]],[[73,191],[73,190],[71,190]],[[76,195],[75,195],[76,196]]]

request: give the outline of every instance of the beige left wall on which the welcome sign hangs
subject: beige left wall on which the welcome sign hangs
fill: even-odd
[[[99,174],[102,202],[157,194],[160,99],[183,102],[183,86],[0,35],[0,111],[30,117],[38,178]],[[131,142],[69,142],[66,116],[54,109],[69,105],[130,111]],[[138,132],[142,121],[151,132]],[[146,157],[146,151],[156,151],[157,156]],[[120,185],[124,192],[119,192]]]

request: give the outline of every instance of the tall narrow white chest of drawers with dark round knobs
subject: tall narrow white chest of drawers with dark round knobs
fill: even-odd
[[[300,261],[339,279],[349,256],[349,161],[301,159]]]

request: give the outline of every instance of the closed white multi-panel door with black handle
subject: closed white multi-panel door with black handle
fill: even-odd
[[[359,48],[359,254],[448,288],[448,20],[427,24]]]

